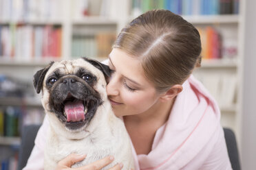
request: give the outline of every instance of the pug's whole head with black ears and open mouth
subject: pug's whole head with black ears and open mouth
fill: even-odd
[[[69,130],[87,125],[98,106],[107,99],[105,76],[108,66],[81,58],[52,62],[34,75],[36,92],[42,90],[42,104]]]

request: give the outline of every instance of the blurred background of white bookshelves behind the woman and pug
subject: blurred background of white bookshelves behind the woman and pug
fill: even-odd
[[[21,128],[41,124],[34,73],[52,60],[105,60],[118,32],[152,9],[198,28],[202,66],[194,72],[236,135],[242,169],[255,169],[255,0],[0,0],[0,169],[17,169]]]

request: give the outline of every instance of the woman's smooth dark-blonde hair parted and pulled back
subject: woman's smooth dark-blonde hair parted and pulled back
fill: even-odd
[[[113,48],[141,60],[147,79],[159,91],[182,84],[200,66],[198,30],[168,10],[151,10],[124,27]]]

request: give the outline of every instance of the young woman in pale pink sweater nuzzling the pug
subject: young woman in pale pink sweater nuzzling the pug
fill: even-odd
[[[131,138],[136,169],[231,169],[220,109],[191,75],[200,53],[198,30],[168,10],[142,14],[118,35],[107,94]],[[43,169],[46,130],[47,118],[25,169]],[[57,169],[84,158],[67,156]],[[113,159],[79,169],[100,169]]]

